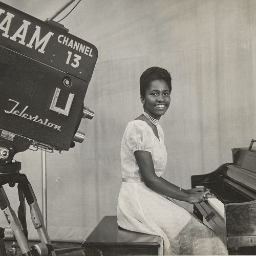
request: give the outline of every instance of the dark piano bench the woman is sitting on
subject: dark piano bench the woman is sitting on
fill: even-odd
[[[117,225],[117,216],[105,216],[82,248],[85,256],[159,255],[160,239],[159,236],[125,230]]]

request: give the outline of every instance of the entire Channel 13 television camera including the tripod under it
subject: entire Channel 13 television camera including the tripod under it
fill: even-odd
[[[63,25],[42,22],[0,2],[0,208],[23,255],[56,253],[31,184],[13,157],[30,147],[68,151],[83,141],[78,127],[82,118],[94,116],[83,101],[97,57],[94,45]],[[7,183],[18,184],[18,217],[3,188]],[[25,199],[41,240],[31,248]],[[6,255],[1,230],[0,255]]]

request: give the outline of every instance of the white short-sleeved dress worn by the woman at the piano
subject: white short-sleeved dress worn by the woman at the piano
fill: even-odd
[[[158,137],[142,120],[128,123],[121,142],[122,185],[117,220],[124,229],[162,237],[160,255],[227,255],[214,231],[202,224],[174,201],[143,183],[134,152],[151,152],[155,172],[165,171],[167,153],[161,126]]]

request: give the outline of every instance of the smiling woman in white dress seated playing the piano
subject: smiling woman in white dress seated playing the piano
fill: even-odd
[[[128,123],[121,142],[118,225],[159,235],[164,255],[228,254],[214,231],[172,200],[198,203],[212,197],[210,192],[205,188],[182,189],[161,178],[167,153],[158,122],[170,104],[171,79],[158,67],[147,69],[140,77],[144,112]]]

